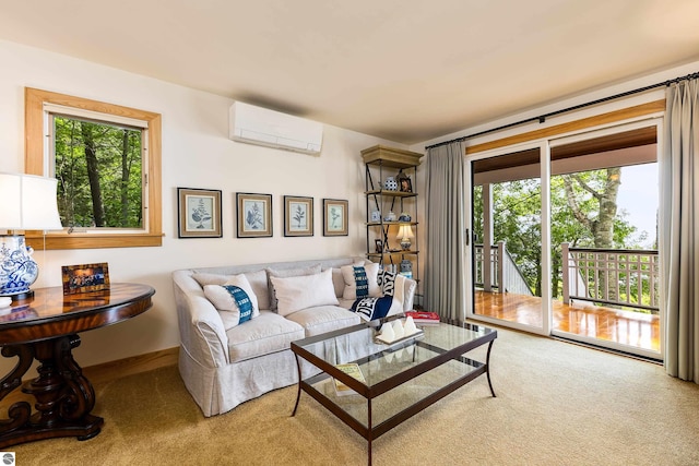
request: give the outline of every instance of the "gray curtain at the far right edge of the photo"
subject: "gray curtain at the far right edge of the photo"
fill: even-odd
[[[667,87],[660,225],[665,370],[699,383],[699,82]]]

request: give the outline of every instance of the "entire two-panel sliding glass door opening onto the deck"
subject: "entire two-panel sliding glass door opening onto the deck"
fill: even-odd
[[[467,158],[470,318],[662,359],[660,124]]]

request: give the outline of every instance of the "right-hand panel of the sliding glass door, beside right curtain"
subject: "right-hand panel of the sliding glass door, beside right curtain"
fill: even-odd
[[[552,333],[662,359],[657,124],[552,146]]]

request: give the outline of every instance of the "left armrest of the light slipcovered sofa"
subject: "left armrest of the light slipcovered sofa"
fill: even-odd
[[[218,311],[191,275],[180,271],[173,278],[182,348],[204,367],[226,366],[228,337]]]

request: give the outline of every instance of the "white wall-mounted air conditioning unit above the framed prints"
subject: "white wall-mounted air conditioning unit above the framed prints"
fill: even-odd
[[[236,101],[230,106],[230,139],[248,144],[318,155],[323,126],[262,107]]]

